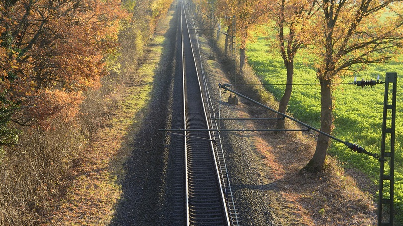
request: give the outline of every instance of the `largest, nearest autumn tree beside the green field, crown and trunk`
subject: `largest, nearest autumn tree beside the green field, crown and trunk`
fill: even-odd
[[[402,47],[401,0],[316,1],[317,79],[321,93],[320,130],[330,134],[333,124],[332,85],[340,75],[360,71],[362,65],[383,63]],[[390,16],[388,16],[390,15]],[[303,168],[323,170],[329,137],[319,134],[316,151]]]

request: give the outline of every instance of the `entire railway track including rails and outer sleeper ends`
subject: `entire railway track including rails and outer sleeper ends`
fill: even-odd
[[[198,69],[197,63],[201,63],[201,58],[195,59],[195,43],[188,26],[191,21],[186,16],[185,4],[182,1],[178,4],[175,79],[177,84],[182,80],[182,87],[176,85],[174,89],[181,89],[182,95],[180,98],[177,95],[174,107],[180,109],[177,111],[182,116],[177,116],[181,122],[173,126],[183,131],[174,139],[177,172],[173,181],[174,225],[238,225],[219,133],[208,131],[217,127],[210,119],[213,110],[209,106],[208,88],[199,77],[202,67]]]

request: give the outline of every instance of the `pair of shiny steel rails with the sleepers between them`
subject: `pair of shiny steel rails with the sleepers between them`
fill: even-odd
[[[209,129],[183,1],[181,1],[181,30],[186,128],[200,128],[204,124],[205,128]],[[200,112],[203,114],[201,115]],[[219,170],[215,164],[214,143],[211,134],[209,132],[187,131],[185,135],[185,158],[187,159],[186,224],[230,225]],[[210,141],[195,139],[192,136],[208,138]],[[211,169],[214,170],[211,171]]]

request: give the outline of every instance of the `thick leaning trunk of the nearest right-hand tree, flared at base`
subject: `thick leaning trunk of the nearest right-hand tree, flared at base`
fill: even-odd
[[[323,77],[326,77],[324,75]],[[324,79],[323,77],[319,77],[320,81],[320,92],[321,92],[321,123],[320,123],[320,131],[325,132],[327,134],[331,133],[332,129],[332,88],[331,88],[331,79]],[[316,151],[313,155],[312,159],[308,164],[302,169],[309,172],[321,172],[323,171],[324,162],[326,159],[326,151],[330,145],[330,138],[319,134],[317,138]]]

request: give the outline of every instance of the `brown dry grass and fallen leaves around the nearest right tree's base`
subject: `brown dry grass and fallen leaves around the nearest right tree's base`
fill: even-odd
[[[313,154],[312,146],[298,139],[287,139],[285,143],[284,139],[284,134],[263,136],[256,138],[255,145],[270,159],[267,166],[271,167],[281,197],[292,204],[287,211],[304,219],[302,222],[307,225],[375,225],[370,195],[357,188],[356,181],[344,173],[333,157],[327,157],[323,173],[300,173]],[[297,219],[293,222],[299,225]]]

